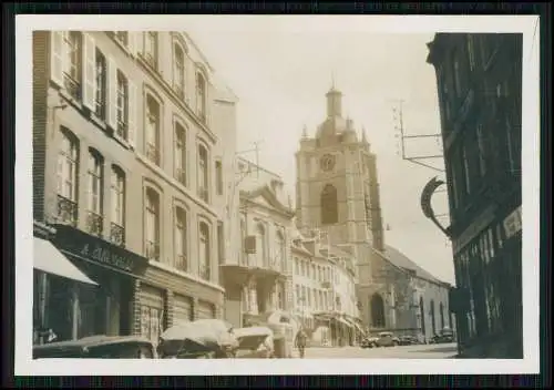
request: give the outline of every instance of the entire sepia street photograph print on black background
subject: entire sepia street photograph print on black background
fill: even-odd
[[[183,18],[28,34],[34,362],[530,357],[538,18]]]

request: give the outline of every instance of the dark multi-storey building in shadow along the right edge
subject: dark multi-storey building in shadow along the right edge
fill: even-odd
[[[438,33],[437,71],[462,356],[523,355],[522,34]]]

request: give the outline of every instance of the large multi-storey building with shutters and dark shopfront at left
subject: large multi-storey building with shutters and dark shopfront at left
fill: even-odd
[[[157,341],[176,321],[223,316],[222,142],[235,127],[219,117],[235,99],[222,91],[183,32],[34,33],[34,219],[98,285],[42,275],[38,327]]]

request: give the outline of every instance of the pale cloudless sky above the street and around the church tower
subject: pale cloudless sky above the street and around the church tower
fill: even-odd
[[[366,129],[378,157],[381,207],[388,245],[397,247],[438,278],[453,283],[447,237],[420,209],[420,194],[442,172],[401,156],[393,107],[403,100],[404,134],[440,132],[437,81],[425,62],[432,33],[375,33],[349,25],[348,18],[325,20],[198,18],[185,31],[238,96],[238,151],[259,141],[259,164],[279,174],[294,196],[295,152],[302,127],[314,136],[325,120],[325,94],[335,79],[343,93],[342,113],[358,132]],[[398,127],[398,126],[397,126]],[[408,156],[440,154],[440,138],[406,140]],[[255,160],[254,153],[244,154]],[[432,160],[441,167],[441,158]],[[434,195],[438,214],[448,212],[445,193]],[[448,224],[448,219],[444,220]]]

